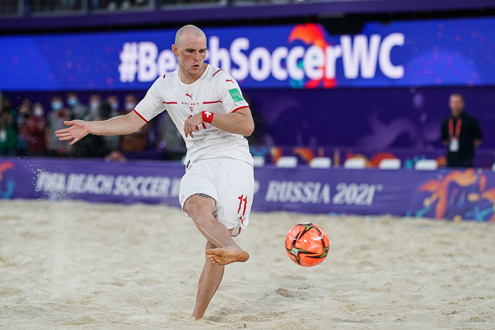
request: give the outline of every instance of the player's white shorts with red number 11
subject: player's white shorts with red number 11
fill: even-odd
[[[190,164],[181,179],[179,202],[182,210],[186,200],[203,193],[217,201],[214,215],[235,237],[248,226],[254,197],[253,167],[233,158],[199,159]]]

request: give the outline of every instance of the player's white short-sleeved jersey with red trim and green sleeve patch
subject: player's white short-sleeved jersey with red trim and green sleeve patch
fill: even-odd
[[[253,165],[248,140],[241,134],[228,133],[203,122],[194,137],[186,137],[184,122],[195,113],[232,113],[249,107],[236,80],[227,72],[208,65],[194,83],[181,82],[178,71],[160,76],[148,89],[134,111],[148,122],[166,110],[186,141],[186,166],[196,159],[230,157]]]

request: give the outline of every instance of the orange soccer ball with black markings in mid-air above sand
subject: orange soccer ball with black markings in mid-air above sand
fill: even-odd
[[[294,225],[285,237],[285,250],[290,259],[304,267],[322,263],[327,257],[329,247],[327,234],[314,223]]]

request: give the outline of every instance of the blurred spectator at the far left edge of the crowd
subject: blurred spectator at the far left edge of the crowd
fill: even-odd
[[[3,98],[0,109],[0,156],[17,154],[16,113],[10,107],[10,100]]]

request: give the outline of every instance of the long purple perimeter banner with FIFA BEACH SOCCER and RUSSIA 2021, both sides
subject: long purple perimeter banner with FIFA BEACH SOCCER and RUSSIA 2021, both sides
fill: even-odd
[[[84,199],[179,206],[184,166],[61,159],[0,159],[2,199]],[[253,210],[319,214],[395,214],[495,221],[495,173],[485,170],[345,170],[276,168],[254,171]]]

